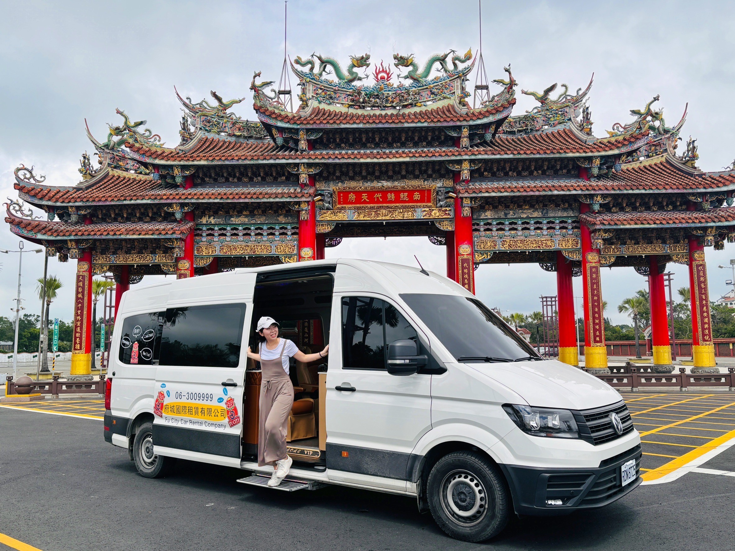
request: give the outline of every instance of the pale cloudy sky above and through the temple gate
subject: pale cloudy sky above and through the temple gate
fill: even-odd
[[[661,95],[667,124],[689,103],[683,137],[698,138],[700,167],[722,170],[735,158],[735,8],[729,2],[698,1],[517,1],[483,0],[483,51],[490,79],[513,75],[526,90],[553,82],[571,90],[595,73],[590,94],[593,130],[605,135],[615,122],[631,120],[629,109]],[[346,62],[369,52],[373,63],[392,54],[415,54],[479,46],[476,0],[289,1],[288,53],[313,51]],[[115,108],[145,118],[167,145],[178,143],[180,104],[173,93],[199,98],[216,90],[225,99],[246,97],[233,111],[254,118],[248,86],[254,71],[278,80],[283,62],[282,1],[0,1],[0,192],[15,196],[12,170],[35,165],[46,183],[79,181],[79,158],[93,151],[84,121],[98,138],[106,123],[118,124]],[[474,79],[470,79],[470,85]],[[294,86],[295,87],[295,86]],[[519,94],[515,113],[534,106]],[[37,213],[40,214],[40,213]],[[17,249],[18,238],[0,227],[0,248]],[[26,243],[26,247],[31,247]],[[414,264],[443,273],[445,251],[426,238],[345,240],[327,256],[351,256]],[[711,297],[726,292],[735,245],[707,249]],[[10,316],[18,278],[18,254],[0,254],[0,315]],[[74,262],[49,262],[65,282],[52,316],[72,317]],[[675,287],[688,285],[686,267],[673,264]],[[26,311],[37,313],[35,278],[43,255],[24,254]],[[162,277],[162,276],[161,276]],[[556,280],[535,264],[481,266],[478,296],[503,311],[539,309],[539,295],[555,295]],[[581,295],[580,278],[575,295]],[[154,277],[144,281],[153,282]],[[632,268],[603,270],[603,296],[615,323],[615,306],[645,279]]]

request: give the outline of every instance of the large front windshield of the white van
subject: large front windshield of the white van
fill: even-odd
[[[404,293],[401,298],[457,361],[542,359],[522,336],[476,298]]]

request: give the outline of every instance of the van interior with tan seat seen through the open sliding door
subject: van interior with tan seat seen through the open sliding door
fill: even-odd
[[[329,343],[334,267],[323,266],[312,273],[291,270],[258,275],[251,327],[262,316],[280,325],[279,336],[289,339],[299,350],[319,352]],[[258,335],[251,331],[248,345],[256,351]],[[287,450],[296,462],[317,469],[325,466],[326,359],[304,364],[290,359],[290,378],[294,386],[293,408],[288,420]],[[243,406],[243,460],[257,461],[258,415],[261,372],[259,364],[248,359],[245,372]]]

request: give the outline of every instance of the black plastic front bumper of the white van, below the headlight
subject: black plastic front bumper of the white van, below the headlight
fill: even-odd
[[[640,444],[613,458],[602,461],[596,469],[545,469],[501,465],[513,496],[517,514],[559,515],[576,509],[599,508],[619,500],[642,482]],[[623,486],[620,467],[636,460],[637,478]],[[547,505],[546,500],[562,500],[562,505]]]

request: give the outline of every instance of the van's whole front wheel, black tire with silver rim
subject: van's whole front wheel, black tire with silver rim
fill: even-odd
[[[505,481],[477,452],[453,452],[437,461],[429,473],[426,497],[434,522],[456,539],[485,541],[508,522]]]

